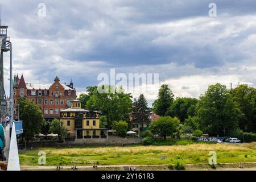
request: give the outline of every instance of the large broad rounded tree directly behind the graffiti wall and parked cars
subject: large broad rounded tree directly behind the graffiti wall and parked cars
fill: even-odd
[[[241,111],[225,85],[208,87],[200,97],[198,116],[200,129],[210,135],[228,135],[236,129]]]

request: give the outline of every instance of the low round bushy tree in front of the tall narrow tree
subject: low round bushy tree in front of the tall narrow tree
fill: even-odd
[[[160,117],[150,124],[150,131],[166,139],[166,137],[172,137],[174,133],[179,132],[179,123],[178,118]]]

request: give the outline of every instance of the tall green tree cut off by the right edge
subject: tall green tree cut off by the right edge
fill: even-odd
[[[233,100],[237,102],[242,117],[238,123],[240,129],[246,132],[256,132],[256,89],[248,85],[240,85],[231,89]]]

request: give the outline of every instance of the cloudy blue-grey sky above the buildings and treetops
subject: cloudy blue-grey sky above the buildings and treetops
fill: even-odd
[[[210,17],[209,3],[217,5]],[[45,3],[46,16],[39,16]],[[159,73],[176,97],[207,86],[256,85],[256,1],[2,1],[14,69],[27,82],[72,78],[77,92],[100,73]],[[40,11],[42,12],[42,11]],[[7,55],[5,55],[6,57]],[[8,57],[6,57],[7,60]],[[5,64],[5,85],[9,63]],[[147,94],[148,100],[157,96]],[[6,89],[8,90],[8,89]],[[9,91],[8,91],[9,92]],[[7,94],[8,95],[8,94]]]

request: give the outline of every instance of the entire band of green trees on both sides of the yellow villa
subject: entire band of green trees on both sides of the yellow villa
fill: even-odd
[[[225,85],[210,85],[199,99],[175,98],[168,85],[162,85],[152,108],[148,107],[143,94],[132,101],[131,94],[120,92],[122,88],[114,90],[114,93],[98,93],[97,86],[89,86],[78,100],[83,109],[101,110],[100,127],[116,129],[120,136],[125,136],[131,129],[131,120],[141,122],[141,125],[149,123],[151,111],[161,117],[148,129],[163,138],[184,134],[232,136],[256,132],[256,89],[248,85],[230,90]],[[19,105],[23,138],[29,140],[40,132],[60,134],[60,140],[65,137],[61,121],[45,121],[39,107],[25,98],[19,98]]]

